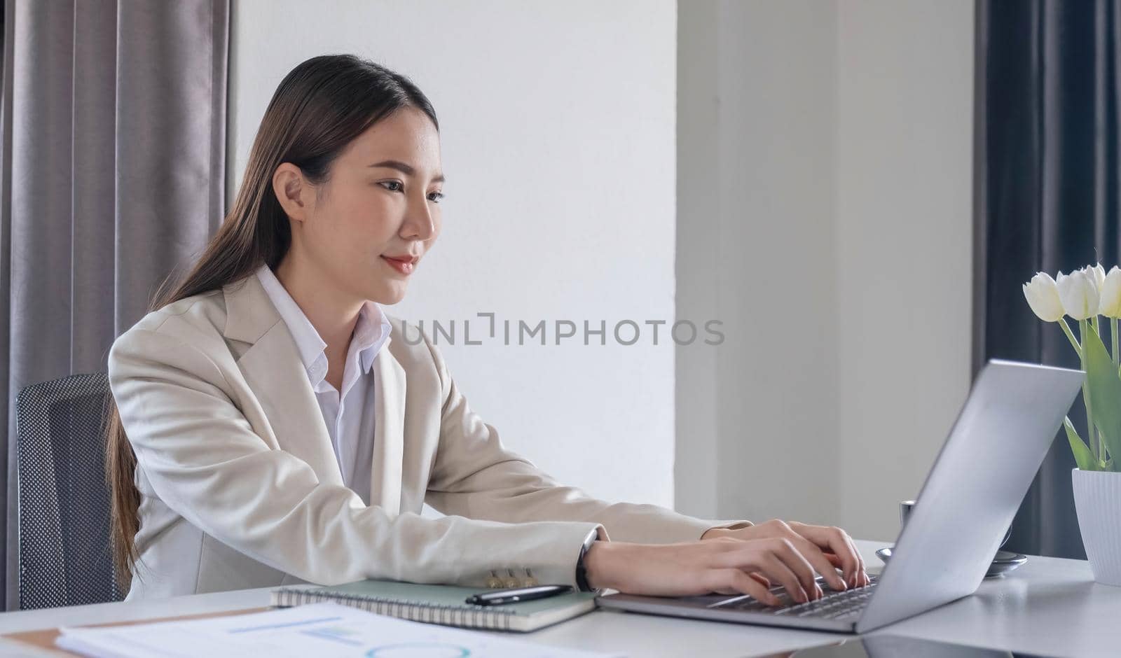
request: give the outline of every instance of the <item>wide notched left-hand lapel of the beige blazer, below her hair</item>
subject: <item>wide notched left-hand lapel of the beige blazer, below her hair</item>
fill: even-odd
[[[260,280],[251,274],[223,286],[223,333],[250,344],[238,365],[265,410],[279,448],[311,466],[321,482],[342,485],[331,434],[296,341]]]

